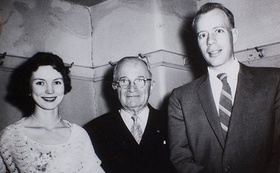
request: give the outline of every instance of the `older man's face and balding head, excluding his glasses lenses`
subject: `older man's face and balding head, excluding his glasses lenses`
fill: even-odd
[[[127,60],[119,65],[117,79],[115,80],[128,79],[131,81],[127,89],[117,88],[121,105],[124,110],[135,113],[142,111],[148,104],[154,81],[146,81],[146,85],[143,88],[137,88],[133,81],[139,78],[150,78],[147,66],[141,60]]]

